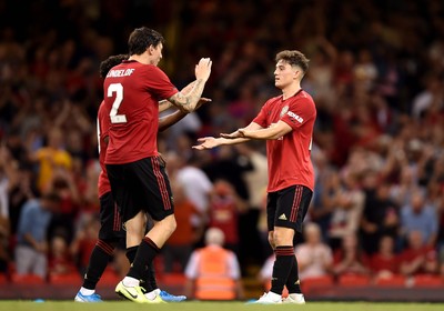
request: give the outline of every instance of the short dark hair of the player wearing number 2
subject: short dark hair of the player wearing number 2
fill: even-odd
[[[130,56],[140,56],[147,51],[150,46],[154,48],[165,40],[158,31],[148,27],[135,28],[128,39],[128,51]]]

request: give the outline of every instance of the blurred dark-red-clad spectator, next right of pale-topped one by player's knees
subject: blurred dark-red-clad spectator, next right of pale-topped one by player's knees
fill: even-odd
[[[342,274],[367,274],[367,258],[362,251],[356,234],[345,235],[342,240],[341,249],[334,252],[333,272],[335,275]]]

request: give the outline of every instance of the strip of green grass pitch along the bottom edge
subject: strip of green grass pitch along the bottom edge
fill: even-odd
[[[138,304],[127,301],[78,303],[73,301],[0,301],[2,311],[238,311],[238,310],[303,310],[303,311],[443,311],[444,303],[383,303],[383,302],[307,302],[294,304],[245,304],[244,302],[180,302],[167,304]]]

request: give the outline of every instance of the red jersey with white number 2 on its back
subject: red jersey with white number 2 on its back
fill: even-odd
[[[110,109],[107,164],[130,163],[158,154],[159,100],[178,92],[155,66],[123,61],[103,82]]]

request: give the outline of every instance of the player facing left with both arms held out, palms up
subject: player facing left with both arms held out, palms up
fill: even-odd
[[[307,69],[309,60],[300,51],[278,53],[274,84],[282,94],[268,100],[246,128],[221,134],[220,138],[201,138],[201,144],[193,147],[203,150],[251,139],[266,140],[266,214],[269,241],[276,260],[271,290],[256,303],[305,303],[300,288],[293,238],[295,232],[302,232],[302,222],[314,188],[310,153],[316,108],[312,97],[301,88]],[[283,300],[284,285],[290,294]]]

